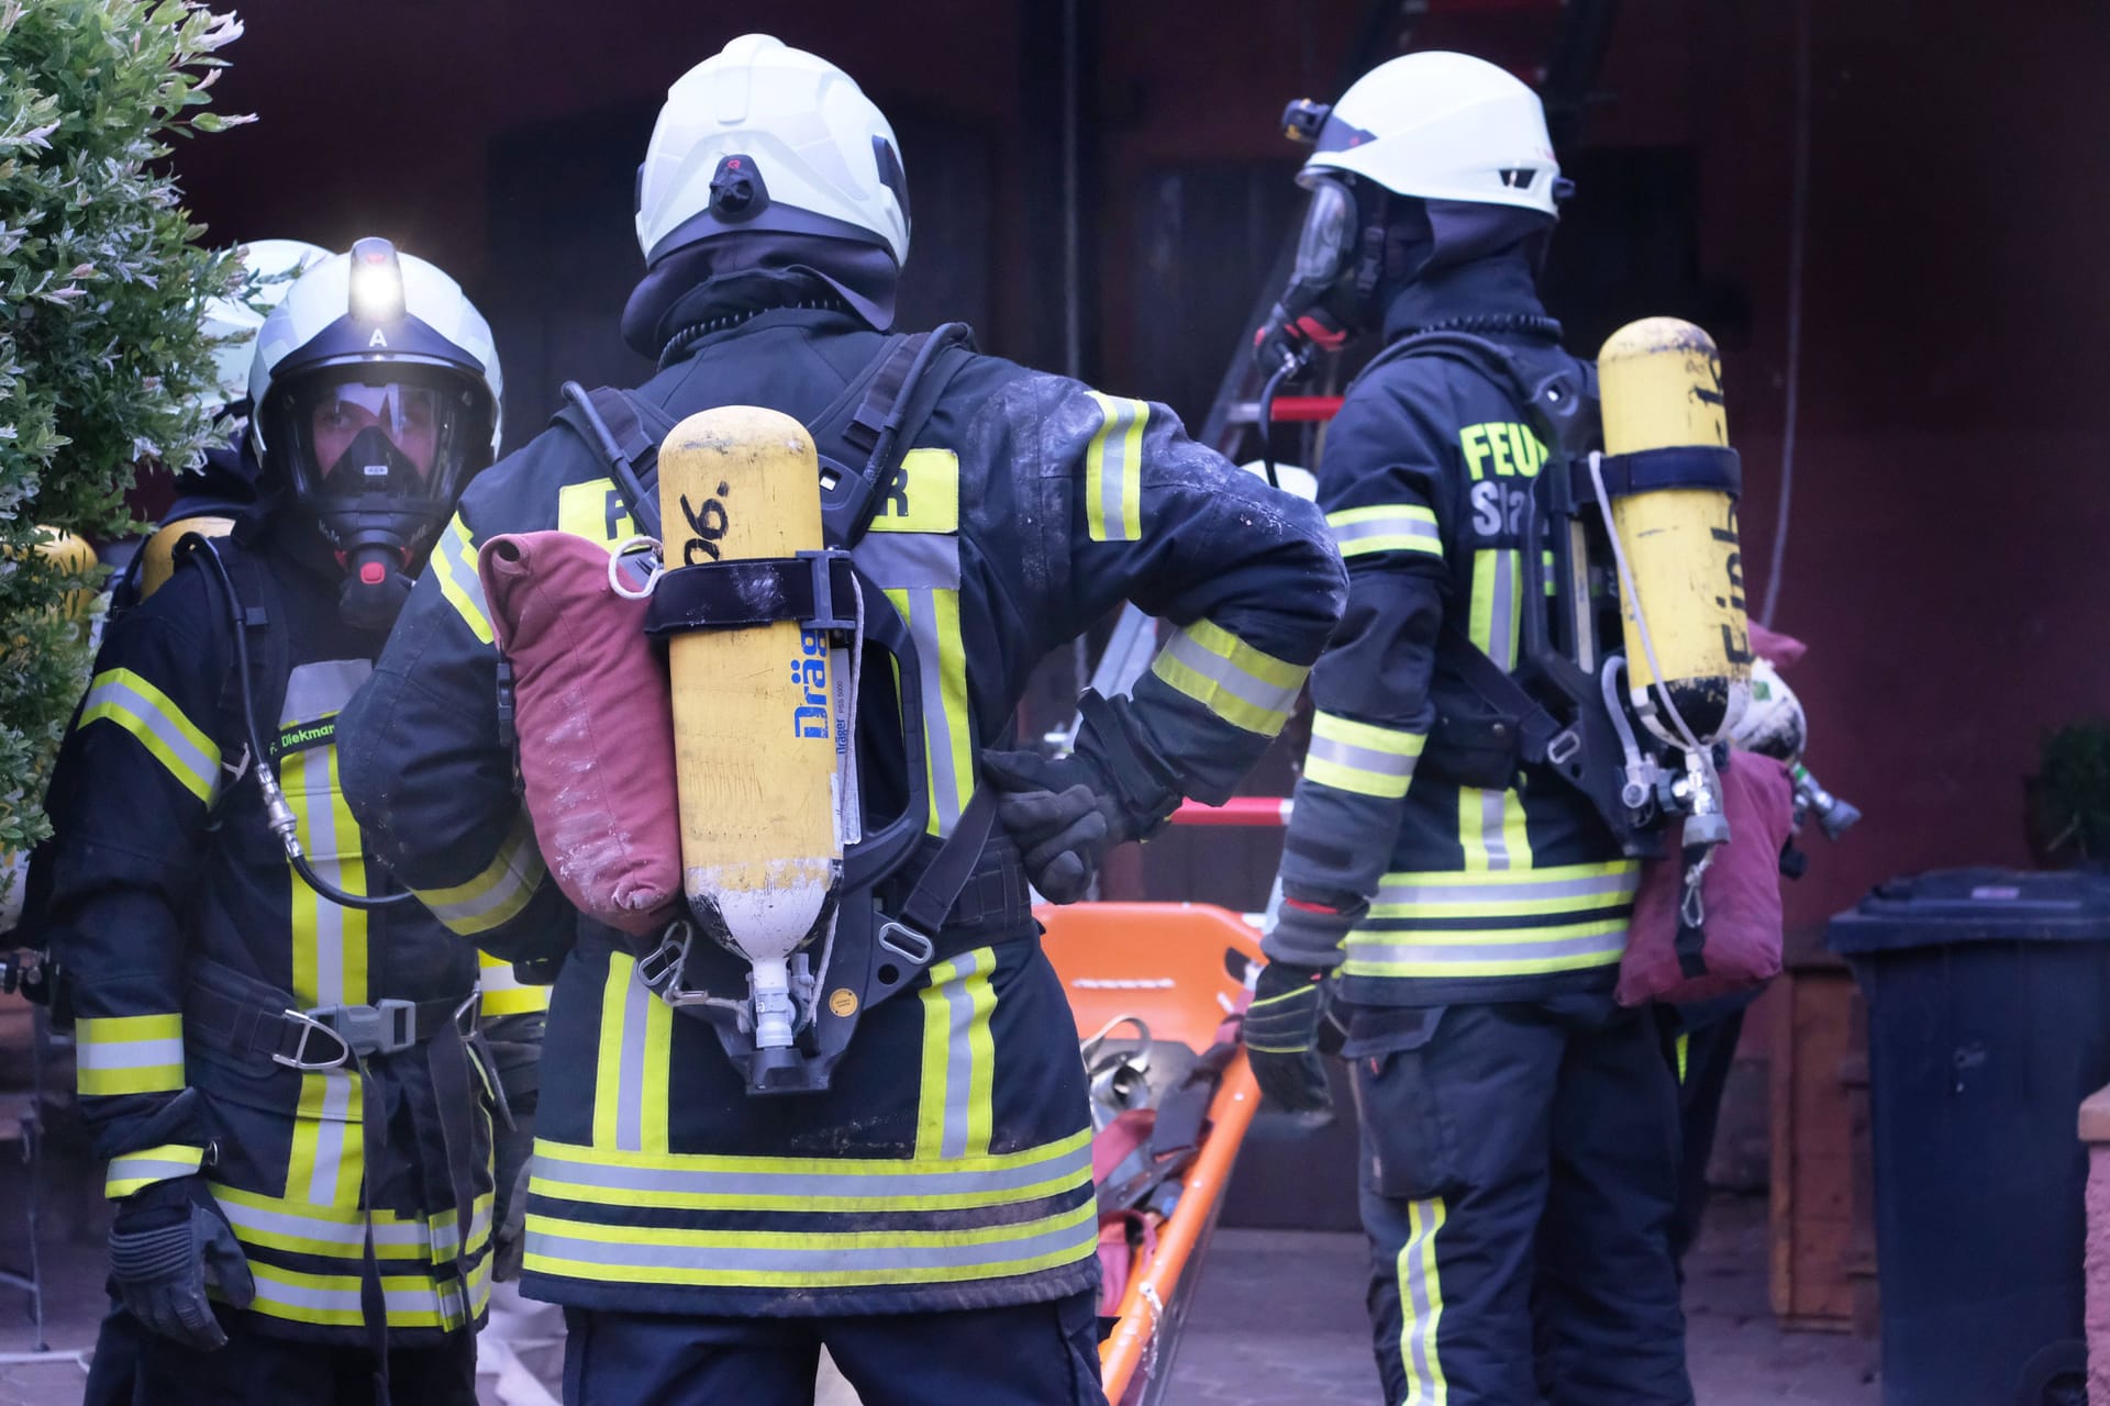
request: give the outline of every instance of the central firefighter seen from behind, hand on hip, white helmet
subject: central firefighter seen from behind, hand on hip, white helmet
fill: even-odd
[[[1097,1402],[1085,1071],[1028,881],[1061,887],[1177,797],[1230,795],[1334,626],[1340,563],[1308,504],[1163,405],[950,337],[907,367],[918,344],[886,335],[909,238],[899,148],[814,55],[745,36],[677,80],[637,232],[648,272],[622,329],[660,373],[616,398],[631,424],[603,417],[601,443],[568,411],[471,489],[340,740],[395,873],[492,951],[559,965],[523,1288],[568,1309],[572,1402],[810,1402],[823,1345],[867,1402]],[[574,919],[544,875],[568,856],[538,854],[519,818],[475,567],[494,533],[614,548],[639,525],[629,468],[612,470],[641,468],[673,422],[743,405],[800,419],[823,460],[865,462],[859,422],[899,426],[869,525],[838,544],[914,639],[899,683],[878,662],[861,675],[867,816],[912,788],[912,700],[928,797],[928,839],[878,902],[914,909],[924,856],[987,824],[977,774],[1017,824],[971,847],[928,968],[863,1008],[825,1092],[751,1094],[713,1024],[639,978],[650,942]],[[1123,599],[1171,626],[1133,696],[1097,704],[1072,757],[992,753],[983,772],[1034,664]],[[523,765],[551,744],[521,736]],[[707,942],[688,961],[745,982]]]

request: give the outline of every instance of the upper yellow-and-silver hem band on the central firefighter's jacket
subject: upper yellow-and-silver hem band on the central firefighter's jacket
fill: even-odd
[[[561,1202],[679,1210],[973,1210],[1091,1185],[1091,1130],[975,1157],[622,1153],[538,1138],[534,1189]]]

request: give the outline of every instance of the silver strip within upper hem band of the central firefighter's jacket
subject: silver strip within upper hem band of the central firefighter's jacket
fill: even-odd
[[[960,1168],[928,1172],[827,1172],[819,1159],[795,1164],[795,1170],[772,1170],[755,1157],[696,1157],[734,1166],[608,1166],[572,1157],[561,1143],[536,1143],[536,1180],[563,1183],[568,1199],[591,1202],[584,1191],[629,1191],[669,1197],[806,1197],[806,1199],[871,1199],[901,1197],[985,1197],[1006,1191],[1030,1191],[1049,1183],[1080,1185],[1091,1178],[1091,1143],[1074,1138],[1072,1147],[1051,1145],[1049,1155],[1000,1168]],[[738,1166],[749,1164],[749,1166]],[[912,1166],[912,1164],[903,1164]]]

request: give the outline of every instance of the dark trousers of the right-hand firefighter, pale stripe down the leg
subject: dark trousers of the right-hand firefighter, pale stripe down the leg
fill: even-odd
[[[1386,1400],[1690,1406],[1654,1016],[1601,993],[1348,1018]]]

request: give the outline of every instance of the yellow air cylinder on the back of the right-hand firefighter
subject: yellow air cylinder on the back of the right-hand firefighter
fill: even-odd
[[[1686,445],[1726,447],[1722,356],[1713,337],[1677,318],[1629,323],[1597,352],[1606,455]],[[1654,489],[1612,500],[1612,523],[1633,571],[1620,582],[1627,683],[1642,719],[1667,740],[1648,687],[1656,681],[1635,609],[1648,622],[1663,683],[1701,742],[1728,731],[1751,689],[1737,497],[1715,489]],[[1637,597],[1637,599],[1635,599]]]

